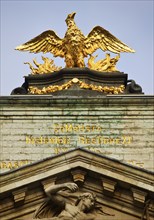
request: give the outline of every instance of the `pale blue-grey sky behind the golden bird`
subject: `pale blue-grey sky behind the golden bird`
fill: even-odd
[[[17,51],[15,47],[49,29],[63,38],[67,30],[65,19],[72,12],[76,12],[75,22],[84,35],[101,26],[133,48],[134,54],[121,53],[117,69],[135,80],[145,95],[154,94],[153,0],[0,0],[0,3],[0,95],[10,95],[24,83],[24,76],[30,74],[24,62],[32,63],[36,58],[42,63],[42,53]],[[101,50],[95,54],[98,59],[105,57]],[[53,58],[49,53],[44,56]],[[54,61],[57,66],[65,66],[62,58]]]

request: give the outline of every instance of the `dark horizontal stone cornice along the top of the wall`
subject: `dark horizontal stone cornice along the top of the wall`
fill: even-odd
[[[97,101],[96,101],[97,100]],[[7,106],[10,104],[20,106],[52,106],[55,105],[153,105],[153,95],[106,95],[103,97],[56,97],[52,95],[14,95],[14,96],[0,96],[0,105]],[[50,104],[50,105],[49,105]]]

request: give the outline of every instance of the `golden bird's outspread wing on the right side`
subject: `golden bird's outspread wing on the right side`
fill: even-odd
[[[113,53],[135,52],[100,26],[94,27],[84,41],[84,53],[86,55],[94,53],[97,49],[102,49],[103,51],[108,50]]]

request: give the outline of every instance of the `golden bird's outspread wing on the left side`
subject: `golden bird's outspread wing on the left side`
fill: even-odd
[[[63,47],[63,39],[59,38],[57,34],[48,30],[28,42],[15,48],[21,51],[30,51],[31,53],[52,53],[55,57],[64,57],[65,49]]]

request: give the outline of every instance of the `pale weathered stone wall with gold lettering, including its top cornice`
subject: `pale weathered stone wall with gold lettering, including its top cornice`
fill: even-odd
[[[153,169],[153,96],[0,97],[1,172],[74,148]]]

